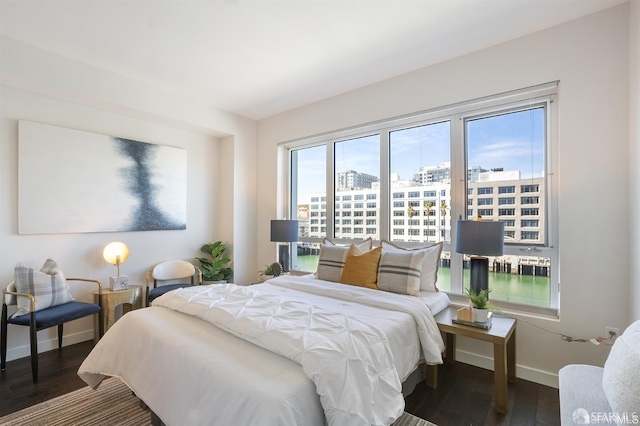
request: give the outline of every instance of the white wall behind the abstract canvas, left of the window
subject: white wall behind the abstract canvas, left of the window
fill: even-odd
[[[115,240],[130,247],[121,269],[132,283],[144,284],[145,272],[162,260],[194,261],[200,246],[215,240],[229,244],[235,282],[254,280],[254,122],[6,37],[0,55],[0,283],[12,280],[17,261],[40,267],[51,256],[68,276],[108,284],[115,270],[102,249]],[[186,149],[187,229],[18,235],[19,119]],[[90,301],[91,292],[84,286],[75,295]],[[90,319],[65,326],[65,345],[92,338]],[[26,328],[10,326],[8,340],[9,359],[28,355]],[[41,352],[55,347],[55,329],[38,340]]]

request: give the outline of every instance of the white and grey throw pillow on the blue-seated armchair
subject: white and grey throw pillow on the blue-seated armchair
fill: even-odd
[[[36,298],[36,311],[50,306],[62,305],[75,299],[58,264],[47,259],[40,271],[18,263],[15,268],[14,281],[16,291],[33,294]],[[31,301],[27,297],[17,298],[18,311],[14,316],[31,312]]]

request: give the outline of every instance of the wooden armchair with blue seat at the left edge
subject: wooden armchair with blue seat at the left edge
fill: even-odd
[[[98,280],[84,278],[67,278],[69,281],[85,281],[95,283],[98,287],[98,293],[102,294],[102,284]],[[24,315],[8,316],[8,306],[16,305],[20,297],[30,299],[30,312]],[[15,282],[11,282],[4,290],[2,297],[2,319],[0,333],[0,352],[1,352],[1,369],[5,371],[7,366],[7,324],[23,325],[29,327],[29,336],[31,341],[31,373],[33,375],[33,383],[38,382],[38,338],[37,332],[46,328],[58,326],[58,349],[62,348],[62,333],[65,322],[83,318],[89,315],[95,315],[102,309],[102,297],[98,298],[98,304],[71,301],[61,305],[51,306],[46,309],[36,311],[36,299],[32,294],[19,293],[16,291]],[[102,323],[102,315],[98,315],[99,335],[102,337],[104,333],[104,324]]]

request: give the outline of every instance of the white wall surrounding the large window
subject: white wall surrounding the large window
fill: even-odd
[[[624,4],[263,120],[258,192],[286,196],[277,184],[279,142],[559,80],[561,315],[557,321],[521,319],[576,337],[602,335],[605,326],[624,328],[631,317],[633,258],[625,225],[630,221],[628,12]],[[266,262],[273,258],[268,220],[281,207],[266,196],[259,205],[258,259]],[[458,351],[460,360],[492,366],[489,345],[460,339]],[[602,365],[608,352],[608,346],[569,344],[518,324],[517,374],[525,379],[557,385],[562,366]]]

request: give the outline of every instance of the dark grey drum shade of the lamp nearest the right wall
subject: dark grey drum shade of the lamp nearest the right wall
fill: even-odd
[[[502,256],[504,223],[459,220],[456,224],[456,252],[478,256]]]

